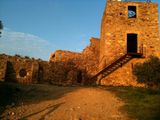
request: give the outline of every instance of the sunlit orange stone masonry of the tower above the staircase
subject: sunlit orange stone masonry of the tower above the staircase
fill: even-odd
[[[136,6],[137,18],[128,18],[128,6]],[[107,4],[102,19],[100,43],[100,61],[107,61],[100,64],[107,64],[127,52],[127,33],[138,34],[138,51],[143,44],[146,56],[158,54],[158,5],[143,2]]]

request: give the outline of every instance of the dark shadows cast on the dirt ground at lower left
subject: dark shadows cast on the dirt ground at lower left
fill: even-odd
[[[14,83],[0,83],[0,116],[6,108],[36,104],[46,100],[56,100],[63,97],[65,94],[79,89],[78,87],[58,87],[53,85],[22,85]],[[32,113],[24,117],[30,117],[36,115],[48,109],[49,111],[42,116],[42,119],[57,109],[60,105],[48,106],[47,108],[40,110],[36,113]]]

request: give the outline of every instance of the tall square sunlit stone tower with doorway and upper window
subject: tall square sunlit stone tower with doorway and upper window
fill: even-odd
[[[135,0],[134,0],[135,1]],[[100,84],[137,84],[132,75],[133,65],[150,55],[159,56],[160,42],[158,30],[158,4],[152,2],[132,2],[108,0],[101,23],[99,70],[125,56],[133,59],[103,77],[99,73]],[[133,55],[141,55],[136,57]]]

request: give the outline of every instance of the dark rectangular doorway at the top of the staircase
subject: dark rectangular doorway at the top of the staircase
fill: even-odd
[[[137,53],[137,34],[127,34],[127,53]]]

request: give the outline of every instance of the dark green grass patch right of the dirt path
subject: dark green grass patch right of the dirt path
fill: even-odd
[[[122,107],[130,118],[160,120],[160,90],[133,87],[103,87],[125,102]]]

